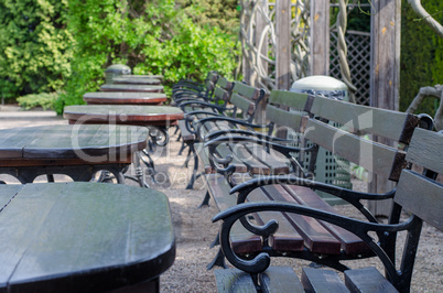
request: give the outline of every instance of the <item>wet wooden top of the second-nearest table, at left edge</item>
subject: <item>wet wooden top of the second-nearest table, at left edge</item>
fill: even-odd
[[[130,161],[148,130],[128,126],[45,126],[0,130],[0,166]],[[69,163],[71,162],[71,163]]]

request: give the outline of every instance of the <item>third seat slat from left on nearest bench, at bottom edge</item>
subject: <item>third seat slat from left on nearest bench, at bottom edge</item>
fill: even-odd
[[[303,268],[302,284],[306,292],[349,292],[338,274],[329,270]]]

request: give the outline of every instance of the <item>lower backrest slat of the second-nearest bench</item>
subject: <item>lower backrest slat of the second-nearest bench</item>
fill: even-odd
[[[360,138],[339,128],[310,118],[304,137],[326,150],[366,170],[397,181],[404,153],[395,148]],[[393,170],[392,170],[393,166]]]

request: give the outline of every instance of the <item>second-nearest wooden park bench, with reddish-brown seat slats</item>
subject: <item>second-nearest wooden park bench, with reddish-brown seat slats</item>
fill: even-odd
[[[331,151],[334,158],[341,156],[374,174],[397,182],[400,171],[404,167],[404,148],[409,144],[414,128],[432,127],[432,119],[428,116],[281,90],[271,93],[266,113],[267,119],[271,121],[267,126],[270,131],[278,123],[279,129],[285,127],[302,133],[300,146],[285,145],[287,142],[294,142],[293,140],[277,139],[241,129],[213,133],[210,138],[226,133],[235,134],[215,138],[198,152],[202,161],[206,162],[204,178],[208,192],[203,204],[213,198],[217,208],[225,210],[245,200],[277,200],[299,203],[335,214],[335,209],[314,192],[321,191],[350,203],[369,221],[376,223],[376,217],[363,205],[363,199],[391,198],[395,191],[366,194],[312,181],[318,146]],[[399,146],[376,142],[363,137],[365,133],[393,140]],[[304,146],[303,140],[313,144]],[[303,165],[304,156],[310,156],[307,167]],[[250,188],[244,187],[240,193],[237,193],[236,188],[230,191],[251,177],[284,173],[296,175],[305,186],[275,184],[255,188],[251,185]],[[392,219],[397,217],[397,213],[395,207]],[[259,224],[268,223],[271,218],[279,221],[280,228],[267,238],[267,241],[252,235],[241,225],[235,226],[236,232],[231,234],[235,251],[244,256],[253,256],[266,250],[271,256],[305,259],[341,271],[347,269],[342,263],[344,260],[374,257],[374,252],[364,241],[339,227],[296,215],[255,215],[255,220]],[[217,254],[209,268],[215,264],[224,265],[222,253]]]

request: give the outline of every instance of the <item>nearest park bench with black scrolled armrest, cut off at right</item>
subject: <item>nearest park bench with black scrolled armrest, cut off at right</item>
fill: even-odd
[[[442,142],[443,132],[420,128],[414,130],[404,158],[404,162],[414,167],[400,171],[397,188],[390,193],[396,215],[388,224],[357,220],[321,207],[278,200],[244,203],[219,213],[213,220],[223,220],[222,249],[237,269],[215,271],[218,292],[410,292],[423,221],[443,230]],[[250,191],[252,186],[262,188],[263,183],[269,186],[283,183],[304,186],[306,182],[293,175],[281,175],[255,180],[238,186],[236,191]],[[377,196],[367,195],[367,197],[374,199]],[[292,268],[269,267],[270,259],[274,256],[272,250],[263,250],[260,254],[248,259],[236,254],[230,242],[233,224],[242,220],[251,231],[253,229],[261,231],[261,237],[266,241],[266,238],[278,229],[280,223],[266,221],[268,228],[264,229],[264,226],[257,227],[247,220],[248,215],[262,214],[267,210],[309,217],[350,231],[378,257],[383,265],[385,276],[376,268],[345,270],[343,283],[335,271],[303,268],[300,282]],[[407,211],[404,215],[408,218],[400,221],[401,210]],[[406,231],[404,242],[397,239],[401,231]],[[402,248],[402,252],[401,258],[396,260],[397,247]]]

